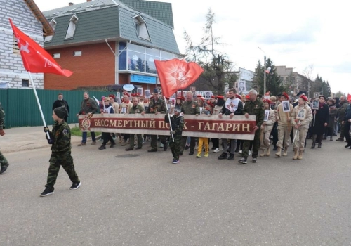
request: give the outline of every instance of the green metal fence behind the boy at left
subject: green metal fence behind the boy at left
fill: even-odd
[[[51,91],[37,90],[38,98],[43,110],[46,124],[53,124],[53,103],[58,99],[58,93],[69,105],[68,123],[77,123],[77,112],[80,110],[84,91]],[[89,96],[100,100],[101,96],[108,96],[108,91],[88,91]],[[42,126],[40,111],[32,89],[0,89],[0,102],[5,110],[5,127],[34,127]]]

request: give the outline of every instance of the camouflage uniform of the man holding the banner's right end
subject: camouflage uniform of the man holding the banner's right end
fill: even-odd
[[[253,138],[252,157],[257,158],[258,150],[260,149],[260,127],[265,118],[265,106],[261,100],[247,101],[243,110],[243,115],[248,113],[249,115],[256,115],[256,126],[258,129],[255,131],[255,137]],[[242,156],[247,159],[249,156],[250,140],[244,140]]]

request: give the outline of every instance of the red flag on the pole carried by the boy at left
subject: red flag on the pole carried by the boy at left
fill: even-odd
[[[13,33],[17,39],[18,48],[20,48],[23,65],[25,65],[27,71],[47,72],[56,75],[64,75],[66,77],[72,75],[73,72],[62,69],[51,55],[44,50],[44,48],[41,48],[36,41],[29,38],[26,34],[15,27],[11,19],[9,20]]]

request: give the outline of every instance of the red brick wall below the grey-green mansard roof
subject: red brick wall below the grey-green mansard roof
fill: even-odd
[[[109,44],[114,48],[114,42]],[[74,51],[81,51],[81,56],[73,56]],[[60,58],[55,60],[62,68],[71,70],[73,75],[44,74],[44,89],[72,90],[79,86],[114,84],[114,54],[106,43],[57,48],[48,50],[48,53],[60,53]],[[128,76],[120,75],[119,83],[128,83]]]

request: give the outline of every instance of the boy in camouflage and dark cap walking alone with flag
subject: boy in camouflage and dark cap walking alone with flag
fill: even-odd
[[[49,131],[48,127],[44,127],[44,132],[50,135],[48,143],[51,146],[51,157],[50,166],[48,168],[48,181],[46,183],[45,190],[40,196],[51,195],[53,193],[53,186],[56,183],[58,177],[58,171],[60,166],[65,169],[69,179],[72,181],[70,190],[77,190],[81,186],[81,181],[74,170],[73,158],[71,155],[71,131],[64,118],[67,115],[67,109],[65,107],[55,108],[53,110],[53,130]],[[47,138],[47,136],[46,136]]]

